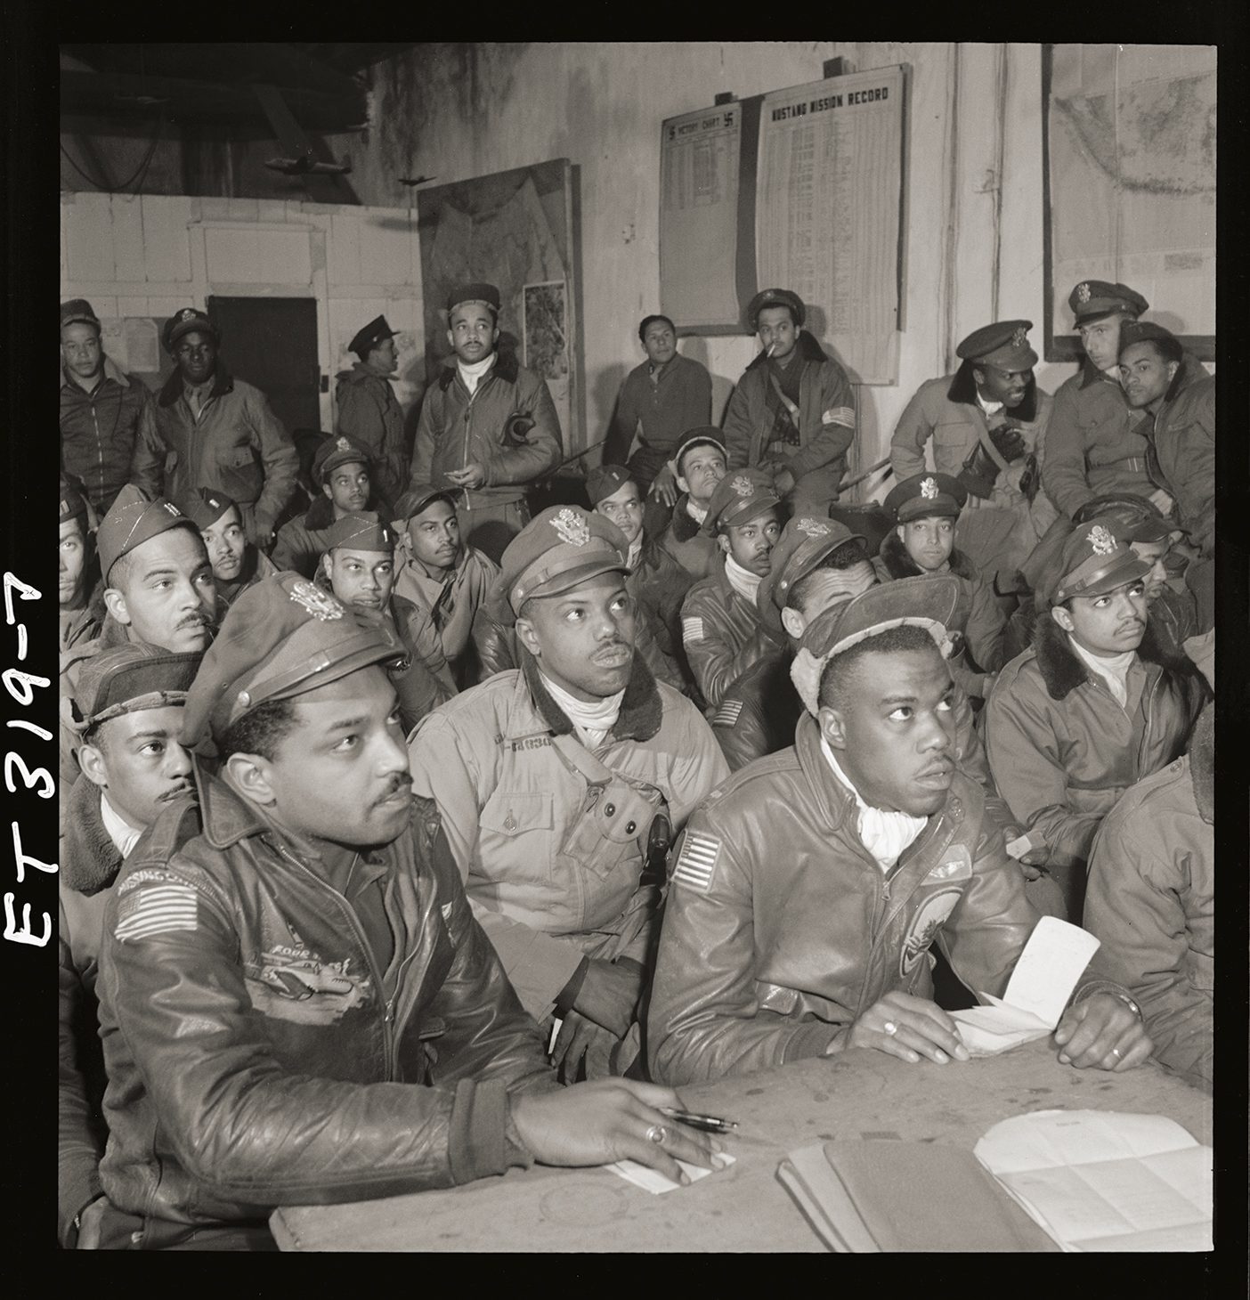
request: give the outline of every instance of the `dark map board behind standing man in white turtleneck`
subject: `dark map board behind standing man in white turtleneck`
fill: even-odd
[[[573,173],[568,159],[439,185],[417,196],[425,363],[451,355],[447,294],[459,282],[499,286],[499,346],[547,381],[564,451],[586,446],[576,291]]]

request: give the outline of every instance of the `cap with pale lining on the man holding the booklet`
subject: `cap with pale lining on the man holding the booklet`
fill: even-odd
[[[962,601],[959,578],[954,573],[932,573],[871,586],[842,604],[823,610],[804,629],[790,666],[790,679],[803,706],[815,716],[825,664],[878,632],[924,628],[945,658],[950,650],[949,629]]]

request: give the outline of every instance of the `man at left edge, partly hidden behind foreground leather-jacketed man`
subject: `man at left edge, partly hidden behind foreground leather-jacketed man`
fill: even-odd
[[[178,740],[182,706],[200,662],[121,645],[90,659],[74,694],[82,775],[61,818],[60,919],[60,1240],[100,1244],[104,1058],[96,979],[104,909],[122,862],[175,801],[194,794],[191,757]]]

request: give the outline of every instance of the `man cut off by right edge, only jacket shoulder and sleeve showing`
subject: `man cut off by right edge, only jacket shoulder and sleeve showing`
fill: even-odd
[[[1215,633],[1185,649],[1215,690]],[[1142,1009],[1155,1060],[1210,1091],[1215,1035],[1215,703],[1188,751],[1107,814],[1089,858],[1085,928]]]

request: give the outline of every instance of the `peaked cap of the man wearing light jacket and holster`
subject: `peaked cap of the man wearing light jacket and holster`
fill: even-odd
[[[533,595],[559,595],[598,577],[625,572],[625,534],[580,506],[551,506],[508,542],[495,580],[494,607],[507,621]]]

